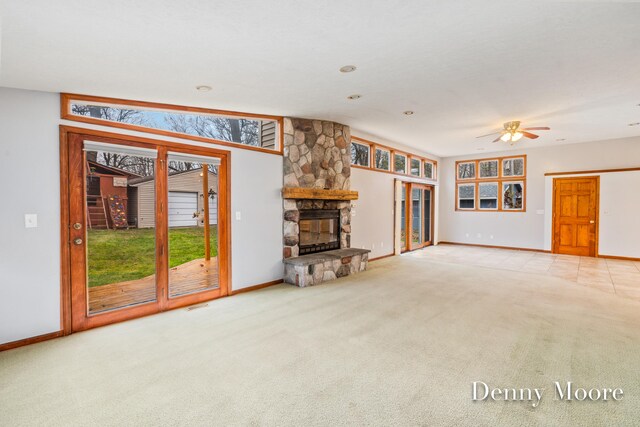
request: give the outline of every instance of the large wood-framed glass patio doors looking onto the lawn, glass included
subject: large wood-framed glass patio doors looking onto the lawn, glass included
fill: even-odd
[[[63,250],[69,301],[63,306],[68,317],[65,332],[228,295],[228,152],[87,133],[65,133],[61,139],[68,160],[63,168],[68,204],[63,200],[62,206],[63,221],[68,221],[62,224],[63,239],[68,242]],[[130,169],[104,167],[93,158],[99,153],[144,159],[148,175],[127,175]],[[200,169],[171,175],[170,163],[175,167],[181,161]],[[117,186],[104,185],[105,180]],[[168,197],[172,186],[198,192],[198,212],[187,226],[169,224],[172,212],[174,223],[183,221]],[[132,223],[124,215],[132,214],[129,207],[134,198],[137,217]],[[216,215],[209,212],[212,206]]]

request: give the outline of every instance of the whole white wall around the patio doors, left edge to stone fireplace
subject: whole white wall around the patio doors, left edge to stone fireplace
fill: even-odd
[[[0,88],[0,344],[60,330],[58,125],[150,137],[59,115],[58,94]],[[232,289],[280,279],[282,157],[218,148],[231,151]],[[24,228],[25,213],[38,228]]]

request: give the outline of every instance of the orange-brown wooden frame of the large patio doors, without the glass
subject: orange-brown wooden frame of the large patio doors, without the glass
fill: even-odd
[[[78,128],[71,126],[60,126],[60,255],[61,255],[61,273],[60,273],[60,286],[61,286],[61,310],[60,321],[62,332],[64,335],[68,335],[73,331],[88,329],[92,327],[102,326],[105,324],[115,323],[118,321],[128,320],[132,318],[142,317],[148,314],[157,313],[160,311],[170,310],[173,308],[184,307],[187,305],[196,304],[202,301],[215,299],[218,297],[227,296],[230,294],[231,289],[231,153],[227,150],[220,150],[216,148],[193,146],[188,144],[162,141],[158,139],[137,137],[132,135],[123,135],[105,131],[99,131],[94,129]],[[70,167],[70,155],[75,156],[77,162],[77,154],[74,155],[74,148],[72,144],[78,144],[78,140],[91,140],[96,142],[112,143],[119,145],[130,145],[134,147],[142,148],[154,148],[158,150],[158,158],[163,159],[168,151],[190,153],[202,156],[214,156],[220,158],[220,166],[218,173],[218,247],[220,248],[218,253],[218,277],[219,288],[216,290],[216,295],[212,296],[212,291],[194,293],[192,295],[181,296],[177,298],[169,298],[168,287],[168,269],[165,268],[166,260],[165,256],[160,253],[163,247],[166,246],[167,241],[167,227],[168,218],[166,215],[160,212],[158,208],[161,203],[166,206],[168,193],[166,190],[167,179],[156,179],[156,190],[160,197],[156,199],[156,228],[158,229],[159,239],[156,242],[156,282],[161,283],[163,286],[157,287],[156,301],[152,304],[143,303],[127,309],[126,315],[123,315],[122,310],[114,310],[111,312],[101,313],[99,316],[93,317],[98,319],[90,322],[77,323],[74,322],[72,316],[72,299],[82,297],[80,295],[72,294],[71,286],[71,272],[72,272],[72,257],[71,257],[71,240],[79,237],[74,236],[74,231],[71,227],[71,191],[70,176],[71,173],[78,173],[77,169],[83,170],[82,162],[80,165],[72,170]],[[157,176],[165,174],[163,165],[158,162]],[[77,191],[77,189],[76,189]],[[222,206],[220,206],[222,205]],[[82,215],[85,215],[85,209],[82,209]],[[84,218],[83,218],[84,221]],[[86,223],[84,221],[83,223]],[[167,224],[164,224],[167,223]],[[84,227],[81,232],[85,232]],[[77,233],[76,233],[77,234]],[[161,294],[162,293],[162,294]],[[90,316],[86,316],[89,318]],[[76,323],[74,325],[74,323]]]

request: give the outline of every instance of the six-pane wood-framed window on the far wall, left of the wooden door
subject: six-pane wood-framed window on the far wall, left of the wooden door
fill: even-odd
[[[524,212],[526,170],[526,155],[456,162],[456,209]]]

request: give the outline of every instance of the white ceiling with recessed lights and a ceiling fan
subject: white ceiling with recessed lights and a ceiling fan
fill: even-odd
[[[507,149],[474,137],[516,119],[552,128],[519,147],[640,135],[637,2],[0,0],[0,19],[2,86],[324,118],[440,156]]]

